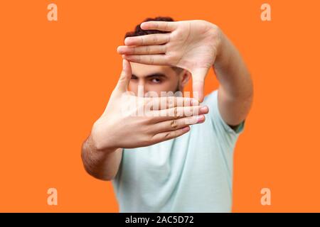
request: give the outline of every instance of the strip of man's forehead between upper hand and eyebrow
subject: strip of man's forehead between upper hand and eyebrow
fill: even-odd
[[[172,74],[174,70],[167,65],[144,65],[136,62],[130,62],[132,67],[132,74],[137,77],[146,77],[150,74],[162,73],[162,74]]]

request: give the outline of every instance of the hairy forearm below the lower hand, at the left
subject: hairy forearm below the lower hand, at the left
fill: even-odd
[[[82,162],[85,170],[97,179],[111,180],[117,174],[122,149],[97,150],[90,135],[82,145]]]

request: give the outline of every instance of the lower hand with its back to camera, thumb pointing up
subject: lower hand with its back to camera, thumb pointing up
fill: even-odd
[[[190,130],[190,125],[203,123],[207,106],[183,97],[139,97],[128,94],[132,77],[131,65],[123,60],[123,69],[107,107],[92,127],[92,141],[97,150],[139,148],[176,138]],[[124,101],[127,100],[127,101]],[[128,110],[128,105],[137,104]],[[166,104],[166,105],[164,105]],[[150,106],[157,106],[152,109]],[[134,114],[144,109],[143,116]],[[186,114],[188,113],[188,114]],[[187,116],[186,116],[187,115]]]

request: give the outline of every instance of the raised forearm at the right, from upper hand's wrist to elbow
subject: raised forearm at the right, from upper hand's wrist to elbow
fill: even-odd
[[[249,99],[252,96],[252,80],[240,52],[228,37],[222,34],[220,48],[214,64],[215,74],[230,99]]]

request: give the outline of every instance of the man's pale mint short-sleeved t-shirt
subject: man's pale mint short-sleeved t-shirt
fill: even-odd
[[[234,131],[218,110],[218,90],[206,96],[206,121],[181,137],[124,149],[112,180],[120,212],[230,212]]]

